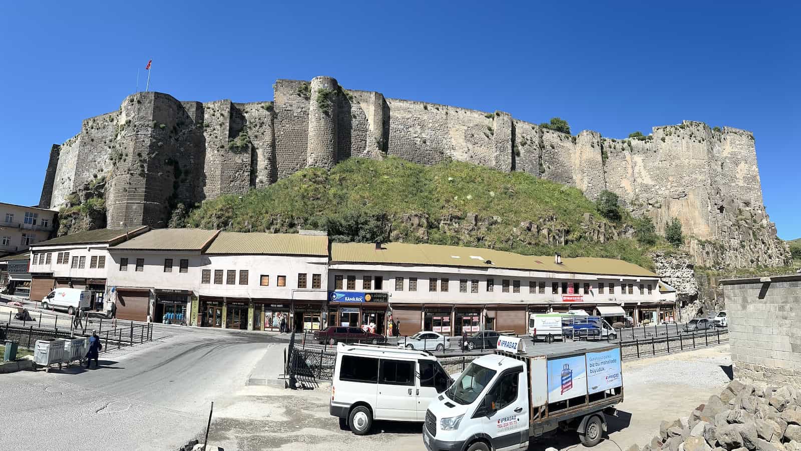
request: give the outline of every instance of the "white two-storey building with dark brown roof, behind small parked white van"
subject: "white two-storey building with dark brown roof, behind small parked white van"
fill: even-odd
[[[147,232],[147,226],[102,228],[59,236],[30,246],[30,299],[42,300],[54,288],[92,292],[92,306],[103,309],[107,293],[108,248]]]

